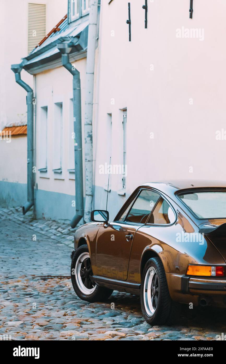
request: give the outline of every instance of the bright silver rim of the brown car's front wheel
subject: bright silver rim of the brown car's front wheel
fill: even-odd
[[[87,261],[87,259],[89,259],[89,261]],[[88,288],[88,284],[87,284],[87,280],[89,280],[89,277],[85,277],[83,275],[83,271],[85,270],[84,269],[84,262],[90,262],[90,254],[85,252],[85,253],[82,253],[78,259],[77,259],[77,262],[75,264],[75,280],[77,282],[77,285],[78,285],[78,288],[81,290],[81,292],[83,294],[91,294],[94,292],[95,288],[96,288],[96,284],[93,285],[93,284],[90,284],[89,283],[89,286],[91,286],[90,288]],[[91,267],[91,264],[90,264],[90,267]],[[81,276],[82,274],[82,276]],[[92,275],[92,274],[90,274]],[[86,280],[87,278],[87,280]]]

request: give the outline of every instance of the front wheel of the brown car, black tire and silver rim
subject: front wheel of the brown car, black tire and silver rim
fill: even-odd
[[[79,261],[79,259],[81,260]],[[83,301],[97,302],[106,300],[111,296],[113,290],[96,285],[92,276],[89,249],[87,245],[82,245],[75,250],[71,261],[71,282],[74,291]]]

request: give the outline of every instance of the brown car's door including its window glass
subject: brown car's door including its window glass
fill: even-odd
[[[100,226],[96,238],[96,274],[127,280],[128,265],[136,231],[147,221],[160,194],[140,189],[117,221]]]

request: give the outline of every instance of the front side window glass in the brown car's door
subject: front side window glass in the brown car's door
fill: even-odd
[[[125,222],[145,223],[160,195],[152,190],[142,190],[132,205]]]

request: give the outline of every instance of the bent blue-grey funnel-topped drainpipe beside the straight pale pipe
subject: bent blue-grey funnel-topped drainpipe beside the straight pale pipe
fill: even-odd
[[[70,222],[74,228],[83,218],[83,168],[82,168],[82,116],[81,116],[81,85],[79,71],[69,62],[71,43],[59,43],[62,65],[73,75],[73,116],[74,116],[74,159],[75,159],[75,208],[76,214]]]

